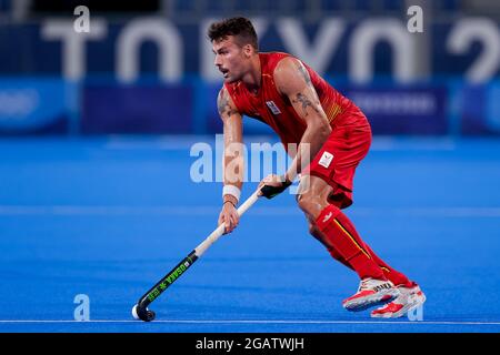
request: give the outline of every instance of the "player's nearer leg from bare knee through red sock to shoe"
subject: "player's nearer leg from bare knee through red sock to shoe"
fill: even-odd
[[[400,292],[387,280],[383,271],[364,247],[349,219],[328,196],[333,192],[322,179],[304,175],[299,187],[298,203],[310,223],[311,234],[321,241],[333,257],[350,265],[361,278],[358,292],[343,301],[349,311],[361,311],[381,302],[389,302]]]

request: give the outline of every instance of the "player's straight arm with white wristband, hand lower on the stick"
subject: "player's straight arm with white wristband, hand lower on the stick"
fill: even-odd
[[[217,99],[219,115],[223,123],[224,154],[223,154],[223,184],[222,211],[219,224],[226,224],[226,233],[232,232],[239,223],[236,206],[240,199],[243,184],[243,138],[242,118],[238,112],[226,88],[222,88]]]

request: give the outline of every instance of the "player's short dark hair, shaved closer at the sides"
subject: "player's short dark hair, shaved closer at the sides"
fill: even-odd
[[[208,37],[211,42],[223,40],[228,36],[234,36],[241,47],[251,44],[256,51],[259,50],[256,29],[247,18],[231,18],[213,22],[208,29]]]

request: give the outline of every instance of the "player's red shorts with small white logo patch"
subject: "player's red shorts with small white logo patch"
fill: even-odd
[[[329,200],[340,209],[352,204],[356,168],[368,154],[371,144],[370,124],[364,115],[362,119],[357,120],[357,124],[332,126],[327,142],[302,172],[321,178],[332,186]]]

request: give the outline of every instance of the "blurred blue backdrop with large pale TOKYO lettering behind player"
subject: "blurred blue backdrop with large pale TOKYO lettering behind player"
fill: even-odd
[[[74,28],[82,4],[88,32]],[[221,132],[206,31],[237,14],[254,20],[261,51],[298,55],[360,105],[374,134],[500,134],[498,1],[3,0],[0,11],[2,135]]]

